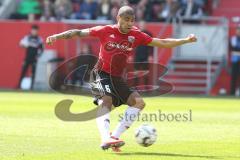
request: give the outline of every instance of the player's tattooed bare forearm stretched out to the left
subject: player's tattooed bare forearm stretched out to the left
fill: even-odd
[[[62,33],[54,34],[46,39],[46,43],[51,45],[53,44],[57,39],[70,39],[72,37],[86,37],[89,36],[89,29],[71,29]]]

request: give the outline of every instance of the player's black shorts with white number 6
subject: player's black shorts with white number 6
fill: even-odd
[[[91,72],[90,84],[95,96],[94,104],[97,104],[99,99],[107,95],[112,97],[113,105],[118,107],[126,104],[128,97],[133,92],[121,77],[111,76],[95,69]]]

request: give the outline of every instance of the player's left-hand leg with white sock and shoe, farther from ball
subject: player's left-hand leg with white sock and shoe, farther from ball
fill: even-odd
[[[114,151],[117,151],[119,147],[123,146],[124,141],[114,138],[110,135],[109,126],[110,126],[110,111],[112,107],[112,97],[103,96],[97,101],[99,109],[97,112],[97,126],[101,135],[102,144],[101,148],[106,150],[108,148],[113,148]],[[116,148],[116,149],[115,149]]]

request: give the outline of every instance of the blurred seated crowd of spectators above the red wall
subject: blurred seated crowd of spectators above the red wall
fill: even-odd
[[[159,22],[211,15],[218,0],[17,0],[10,19],[59,21],[63,19],[113,20],[118,9],[130,5],[136,21]]]

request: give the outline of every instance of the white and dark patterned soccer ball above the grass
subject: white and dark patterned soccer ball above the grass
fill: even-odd
[[[135,139],[141,146],[151,146],[157,140],[157,130],[148,124],[143,124],[136,129]]]

